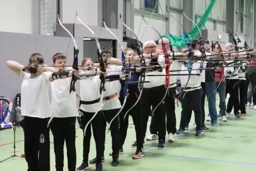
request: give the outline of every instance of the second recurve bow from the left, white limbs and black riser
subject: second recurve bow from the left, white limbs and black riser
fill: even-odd
[[[99,40],[96,36],[96,34],[91,30],[91,28],[88,27],[88,25],[84,24],[79,16],[78,16],[78,12],[76,12],[76,15],[77,15],[77,19],[78,21],[84,25],[84,27],[86,27],[93,35],[93,37],[95,38],[95,41],[96,41],[96,45],[97,45],[97,54],[98,54],[98,58],[99,58],[99,63],[100,63],[100,70],[103,71],[103,72],[106,72],[106,68],[105,68],[105,64],[104,64],[104,61],[103,61],[103,57],[102,57],[102,54],[101,54],[101,47],[100,47],[100,44],[99,44]],[[100,100],[99,100],[99,104],[101,105],[99,107],[99,109],[101,110],[101,108],[103,107],[103,97],[104,97],[104,93],[102,92],[103,91],[106,91],[105,89],[105,76],[103,74],[100,75],[100,80],[101,80],[101,85],[100,85]],[[95,114],[93,114],[93,116],[91,117],[91,119],[87,122],[86,126],[84,127],[84,135],[86,135],[86,130],[87,130],[87,127],[89,126],[89,124],[92,122],[92,120],[96,117],[96,115],[98,114],[98,112],[100,110],[97,110],[95,112]]]

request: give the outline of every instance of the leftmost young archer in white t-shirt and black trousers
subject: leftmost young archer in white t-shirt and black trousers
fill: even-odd
[[[32,54],[29,66],[15,61],[6,65],[23,79],[21,84],[21,115],[25,116],[24,148],[28,170],[50,170],[50,141],[47,123],[50,117],[50,82],[78,76],[79,72],[44,72],[44,58],[39,53]],[[40,153],[40,155],[38,155]]]

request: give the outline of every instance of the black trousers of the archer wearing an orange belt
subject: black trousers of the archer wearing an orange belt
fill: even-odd
[[[120,109],[111,109],[111,110],[103,110],[106,121],[109,123],[115,115],[119,112]],[[105,122],[106,122],[105,121]],[[106,125],[105,125],[106,130]],[[114,121],[110,125],[110,133],[112,137],[112,156],[119,156],[119,148],[120,148],[120,130],[119,130],[119,118],[116,117]],[[106,139],[106,134],[103,135],[104,142]],[[105,146],[104,146],[105,150]]]

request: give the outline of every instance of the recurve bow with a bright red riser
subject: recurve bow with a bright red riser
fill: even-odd
[[[169,81],[170,81],[170,75],[169,75],[169,68],[170,68],[170,61],[169,61],[169,56],[168,56],[168,54],[167,54],[167,50],[166,50],[166,48],[165,48],[165,46],[164,46],[164,44],[163,44],[163,38],[161,37],[161,34],[155,29],[155,28],[153,28],[145,19],[144,19],[144,16],[142,15],[142,19],[143,19],[143,21],[149,26],[149,27],[151,27],[153,30],[155,30],[156,32],[157,32],[157,34],[159,35],[159,37],[160,37],[160,39],[161,39],[161,41],[162,41],[162,49],[163,49],[163,53],[164,53],[164,57],[165,57],[165,64],[167,65],[166,66],[166,68],[165,68],[165,73],[166,73],[166,79],[165,79],[165,87],[166,87],[166,92],[165,92],[165,95],[164,95],[164,98],[163,99],[161,99],[161,101],[159,102],[159,104],[155,107],[155,109],[153,109],[153,112],[152,112],[152,116],[153,116],[153,114],[155,113],[155,111],[156,111],[156,109],[158,108],[158,106],[160,106],[162,103],[163,103],[163,101],[165,100],[165,97],[166,97],[166,95],[167,95],[167,93],[168,93],[168,90],[169,90]]]

